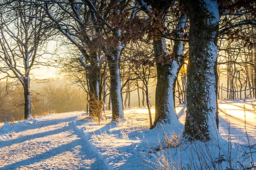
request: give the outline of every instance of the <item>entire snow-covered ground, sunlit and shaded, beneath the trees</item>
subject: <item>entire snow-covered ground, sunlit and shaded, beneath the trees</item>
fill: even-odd
[[[167,164],[173,165],[170,169],[183,166],[189,169],[188,165],[191,169],[200,166],[241,168],[236,165],[237,161],[248,167],[252,158],[255,162],[256,153],[248,159],[240,150],[248,152],[247,147],[243,147],[247,146],[248,139],[250,144],[256,144],[256,114],[252,102],[256,104],[251,99],[219,101],[219,131],[225,140],[220,137],[212,143],[180,145],[179,140],[172,139],[181,129],[159,126],[148,130],[147,108],[125,109],[127,120],[116,122],[110,119],[111,111],[106,111],[108,119],[101,125],[96,125],[83,112],[50,114],[12,126],[5,123],[0,130],[0,169],[147,170],[161,169]],[[244,128],[244,106],[248,137]],[[180,122],[184,123],[186,106],[177,105],[176,110]],[[154,115],[154,108],[151,112]],[[165,139],[177,147],[165,148]],[[232,142],[227,142],[229,139]]]

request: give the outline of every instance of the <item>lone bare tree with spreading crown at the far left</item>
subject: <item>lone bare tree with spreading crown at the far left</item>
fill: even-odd
[[[45,13],[27,3],[14,2],[1,6],[0,71],[20,81],[24,90],[24,118],[31,117],[30,72],[46,65],[42,49],[51,34],[46,28]],[[40,16],[40,17],[38,17]]]

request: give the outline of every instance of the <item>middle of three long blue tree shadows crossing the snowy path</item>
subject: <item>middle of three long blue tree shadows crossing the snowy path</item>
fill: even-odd
[[[6,147],[6,146],[11,146],[12,144],[19,144],[19,143],[22,143],[24,141],[29,141],[29,140],[32,140],[32,139],[35,139],[35,138],[43,138],[43,137],[48,136],[48,135],[54,135],[54,134],[58,134],[58,133],[61,133],[61,132],[66,132],[68,130],[70,130],[70,127],[66,126],[66,127],[61,128],[61,129],[50,130],[50,131],[43,132],[43,133],[35,133],[35,134],[32,134],[32,135],[25,135],[25,136],[22,136],[22,137],[17,138],[17,139],[10,139],[8,141],[1,141],[0,142],[0,148]]]

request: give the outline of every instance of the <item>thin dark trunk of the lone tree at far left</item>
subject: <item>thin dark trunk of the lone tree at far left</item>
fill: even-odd
[[[31,115],[31,94],[30,94],[30,78],[29,76],[23,78],[23,89],[24,89],[24,119],[29,119]]]

